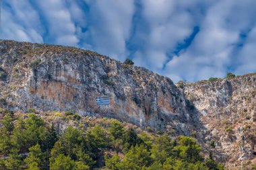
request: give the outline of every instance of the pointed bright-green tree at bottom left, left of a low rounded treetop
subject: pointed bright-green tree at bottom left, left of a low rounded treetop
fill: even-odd
[[[40,145],[36,144],[35,146],[31,146],[28,157],[24,160],[28,169],[42,169],[44,165],[44,155],[41,151]]]

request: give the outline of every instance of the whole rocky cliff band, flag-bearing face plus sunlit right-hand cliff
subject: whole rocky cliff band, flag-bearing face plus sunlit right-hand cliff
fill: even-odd
[[[216,159],[230,169],[255,161],[255,82],[251,74],[178,88],[88,50],[0,40],[0,108],[71,110],[194,136],[204,148],[214,141]],[[110,105],[96,105],[96,97]]]

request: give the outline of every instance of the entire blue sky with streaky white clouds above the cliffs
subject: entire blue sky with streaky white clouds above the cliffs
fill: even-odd
[[[193,82],[256,72],[255,0],[0,0],[0,38],[93,50]]]

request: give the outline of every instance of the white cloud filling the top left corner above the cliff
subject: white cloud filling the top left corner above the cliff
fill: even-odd
[[[6,1],[1,10],[1,38],[28,42],[43,42],[38,13],[28,1]],[[26,9],[26,10],[24,10]]]

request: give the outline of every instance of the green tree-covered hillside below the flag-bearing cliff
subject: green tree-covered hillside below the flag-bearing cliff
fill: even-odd
[[[2,112],[0,169],[223,169],[187,136],[73,112]]]

